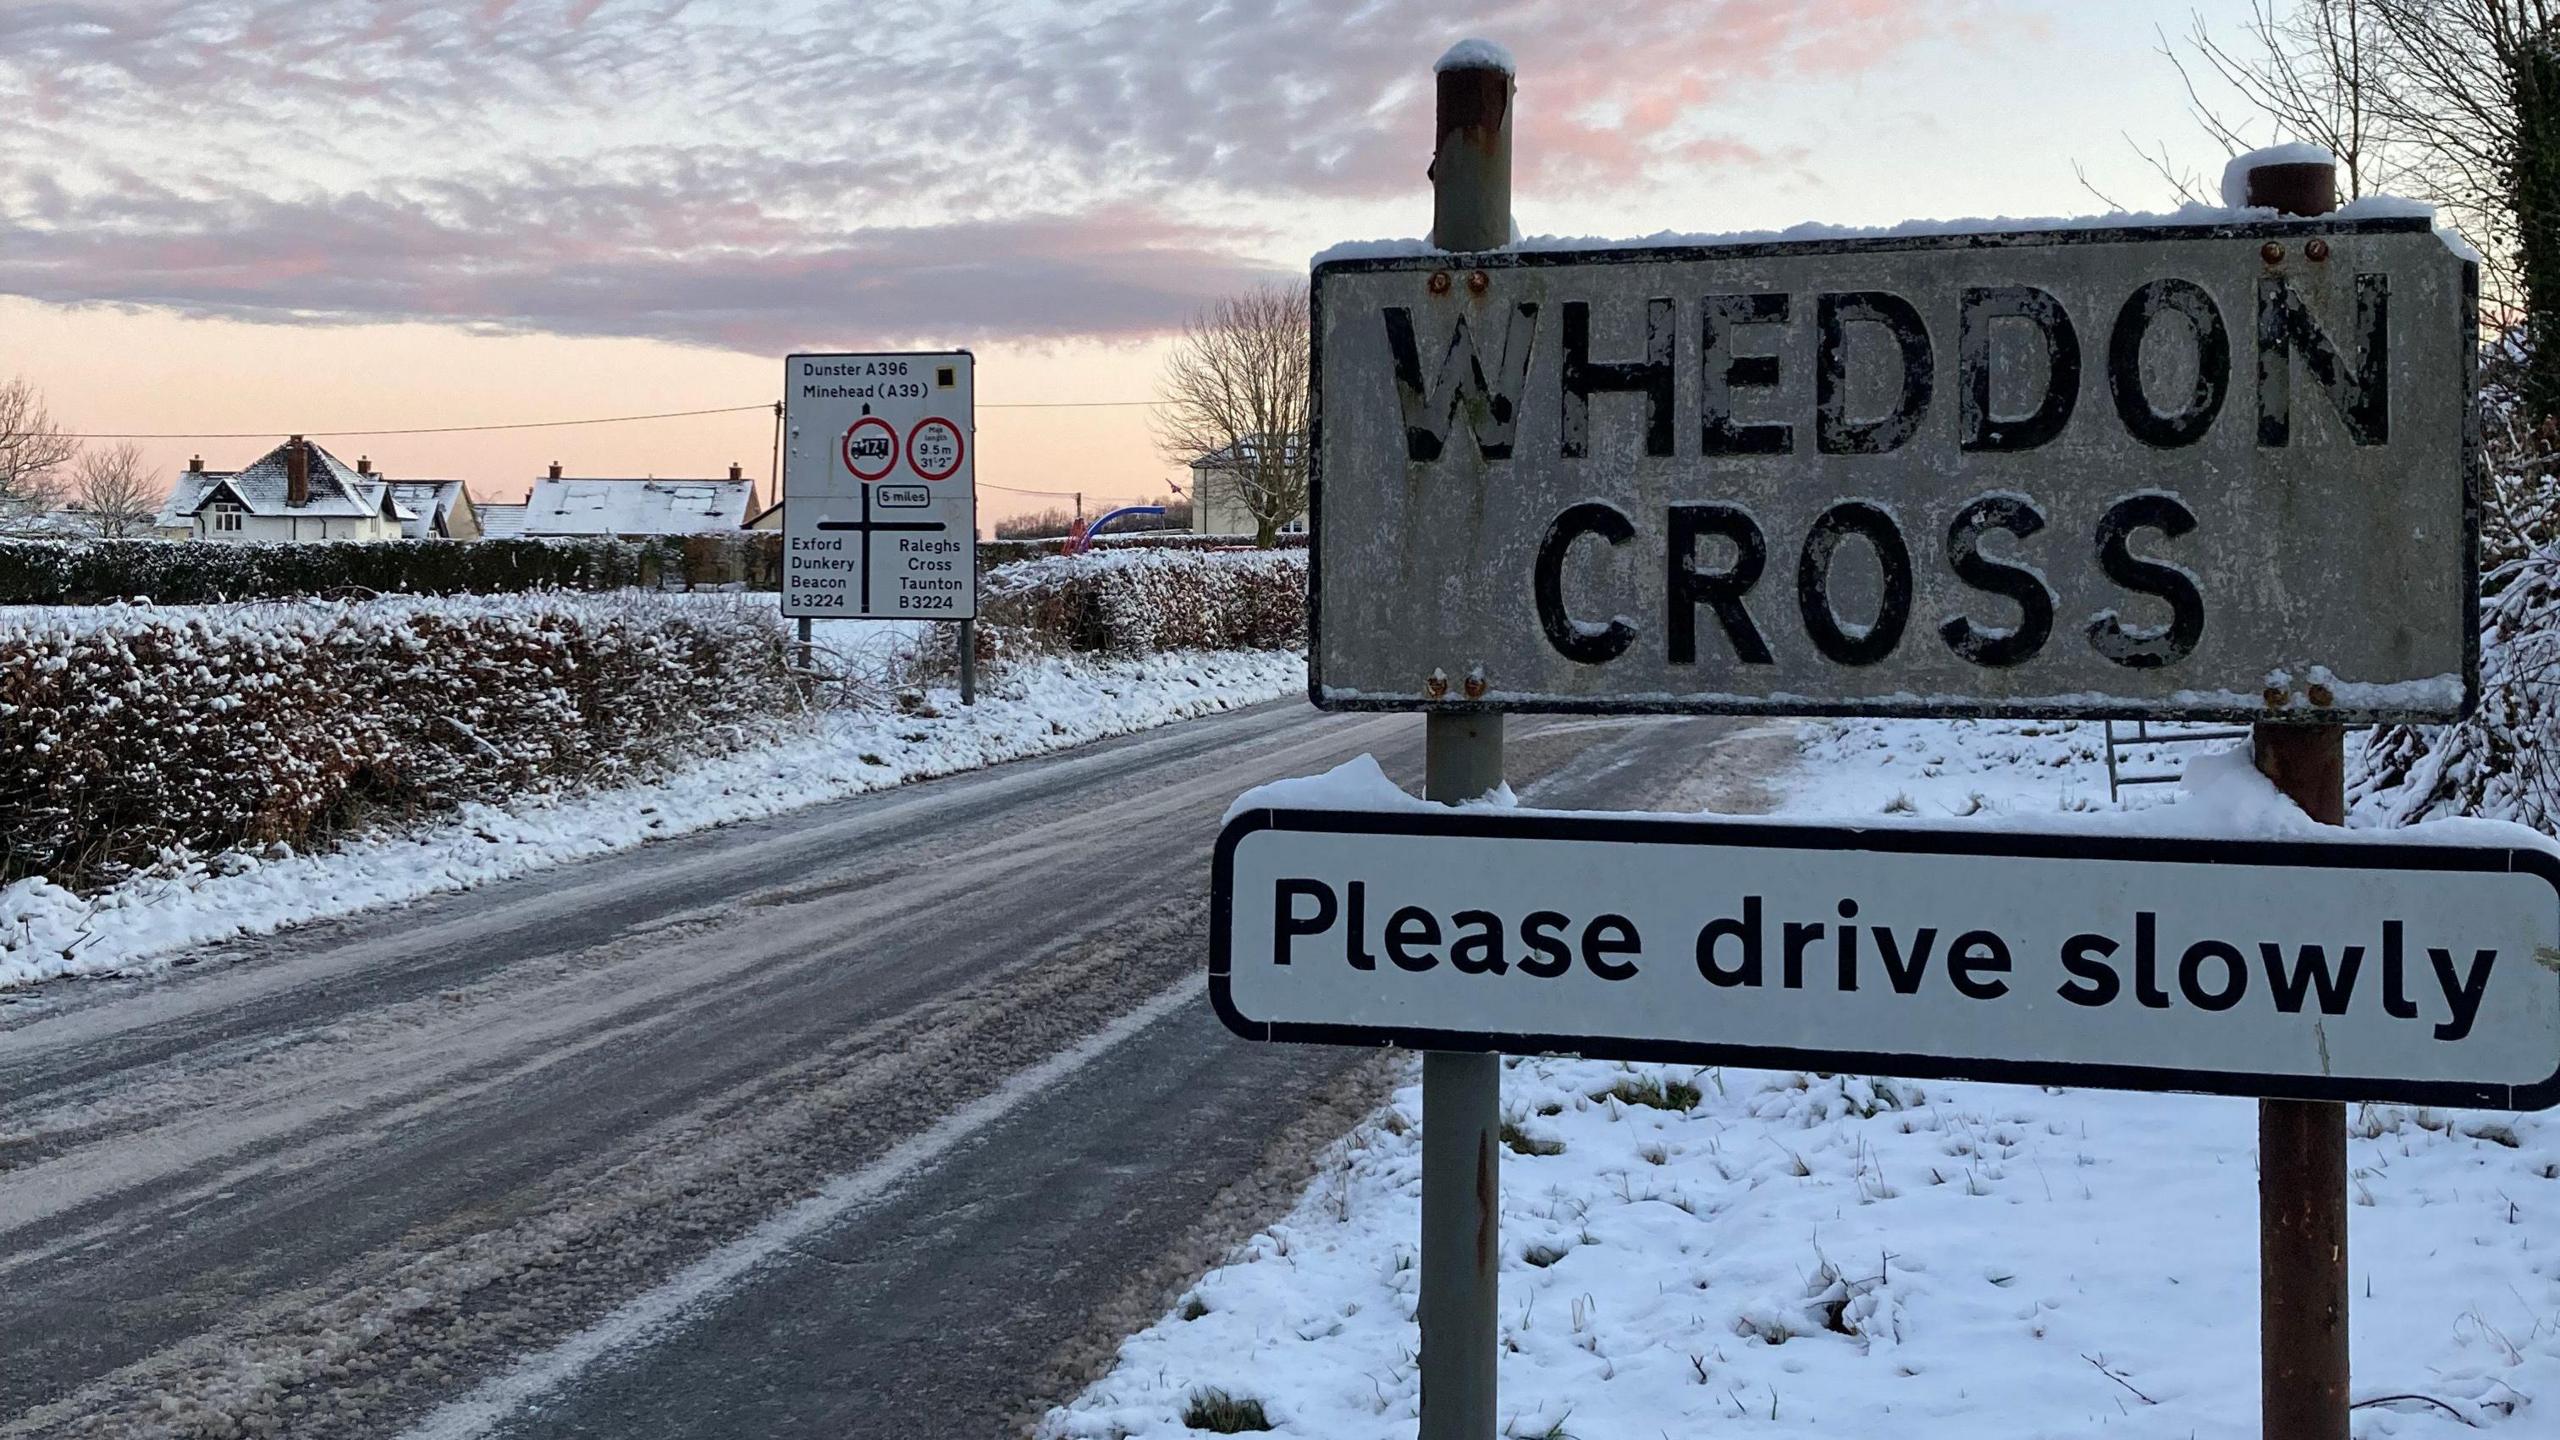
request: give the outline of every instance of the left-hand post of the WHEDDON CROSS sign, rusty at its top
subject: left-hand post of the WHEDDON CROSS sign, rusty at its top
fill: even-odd
[[[1510,72],[1441,61],[1436,120],[1431,243],[1510,243]],[[1500,715],[1423,717],[1426,799],[1454,805],[1500,784]],[[1503,1058],[1423,1056],[1421,1440],[1495,1432],[1500,1191]]]

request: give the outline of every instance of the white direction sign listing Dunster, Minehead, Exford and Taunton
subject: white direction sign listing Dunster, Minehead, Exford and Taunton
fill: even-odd
[[[968,351],[783,361],[783,615],[978,618]]]

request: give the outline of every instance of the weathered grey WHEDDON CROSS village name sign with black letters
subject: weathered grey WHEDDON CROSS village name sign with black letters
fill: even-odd
[[[1308,692],[2458,717],[2476,290],[2417,218],[1321,261]]]

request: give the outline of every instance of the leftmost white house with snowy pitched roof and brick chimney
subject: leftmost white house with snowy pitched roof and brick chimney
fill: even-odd
[[[182,541],[397,541],[417,515],[371,466],[287,438],[246,469],[210,471],[197,459],[169,487],[156,530]]]

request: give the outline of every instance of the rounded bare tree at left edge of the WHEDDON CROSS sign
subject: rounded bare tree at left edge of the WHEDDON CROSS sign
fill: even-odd
[[[1231,484],[1254,518],[1257,546],[1275,546],[1280,528],[1306,515],[1306,282],[1247,290],[1183,325],[1165,366],[1157,446],[1175,464],[1211,461],[1211,484]]]

